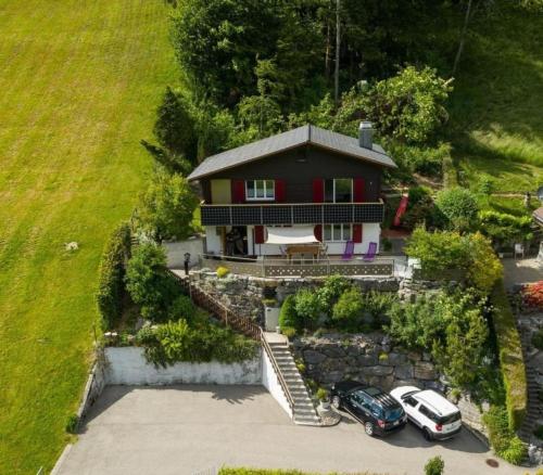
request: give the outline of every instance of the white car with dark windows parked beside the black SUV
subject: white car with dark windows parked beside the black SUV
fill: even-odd
[[[432,389],[400,386],[390,395],[402,405],[409,421],[422,429],[427,440],[443,440],[462,429],[459,409]]]

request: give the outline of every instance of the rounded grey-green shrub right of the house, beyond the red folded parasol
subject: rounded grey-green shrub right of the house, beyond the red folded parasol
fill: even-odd
[[[449,226],[458,231],[470,229],[479,211],[476,196],[464,188],[440,191],[435,206],[446,218]]]

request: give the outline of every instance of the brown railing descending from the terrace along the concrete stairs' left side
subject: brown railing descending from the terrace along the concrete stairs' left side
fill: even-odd
[[[257,325],[256,323],[252,322],[245,317],[236,314],[232,310],[230,310],[220,300],[215,298],[212,294],[203,291],[197,285],[193,285],[189,277],[184,278],[173,271],[171,271],[171,273],[172,275],[174,275],[175,279],[179,281],[181,286],[189,293],[192,300],[194,300],[201,307],[216,313],[225,322],[225,324],[233,326],[235,329],[239,330],[240,332],[244,333],[245,335],[261,343],[262,348],[266,352],[266,356],[268,357],[269,361],[272,362],[272,367],[274,368],[274,372],[277,376],[277,380],[281,385],[282,391],[285,393],[287,402],[289,403],[290,409],[292,410],[292,415],[294,415],[294,398],[290,394],[289,386],[287,385],[287,382],[282,376],[282,372],[274,356],[274,351],[272,350],[272,347],[269,346],[269,343],[266,339],[266,335],[262,326]]]

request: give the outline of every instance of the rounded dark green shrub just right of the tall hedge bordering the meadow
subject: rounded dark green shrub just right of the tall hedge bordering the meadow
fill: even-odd
[[[141,314],[153,322],[167,320],[169,307],[181,293],[166,268],[164,249],[151,243],[138,246],[128,261],[126,288]]]

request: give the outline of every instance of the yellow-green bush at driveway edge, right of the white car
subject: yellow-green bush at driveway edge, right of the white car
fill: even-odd
[[[495,453],[509,463],[519,465],[526,457],[526,447],[509,426],[507,410],[494,406],[483,415],[489,439]]]

